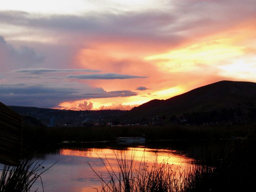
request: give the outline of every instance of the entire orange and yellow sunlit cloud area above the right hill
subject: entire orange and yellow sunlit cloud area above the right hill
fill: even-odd
[[[137,44],[123,41],[102,41],[92,47],[82,48],[76,55],[79,67],[148,76],[147,79],[128,80],[83,80],[92,86],[103,87],[106,91],[136,91],[143,85],[150,87],[147,92],[125,98],[101,98],[86,100],[93,103],[91,109],[129,110],[152,99],[167,99],[182,94],[199,86],[220,80],[254,81],[255,65],[255,27],[251,22],[218,33],[205,33],[201,38],[184,41],[178,47],[171,47],[169,52],[164,48],[143,49]],[[250,40],[248,40],[250,38]],[[154,46],[152,43],[147,46]],[[158,44],[159,46],[159,44]],[[155,54],[154,54],[155,53]],[[244,73],[240,73],[245,66]],[[79,81],[79,80],[78,80]],[[138,83],[139,82],[139,83]],[[148,94],[149,93],[149,94]],[[79,110],[83,100],[61,103],[62,107]]]

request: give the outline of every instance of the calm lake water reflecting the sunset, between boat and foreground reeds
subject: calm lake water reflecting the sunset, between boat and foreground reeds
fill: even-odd
[[[137,146],[117,145],[117,144],[90,144],[90,145],[62,145],[58,149],[46,152],[39,157],[39,162],[47,169],[55,164],[49,170],[42,174],[43,187],[45,192],[97,192],[101,191],[101,183],[98,176],[92,168],[106,181],[109,181],[109,175],[105,164],[110,163],[114,171],[118,171],[116,154],[128,157],[129,159],[135,153],[134,164],[138,166],[143,158],[148,165],[154,161],[159,163],[165,160],[173,167],[183,169],[187,162],[191,162],[202,143],[191,144],[187,142],[167,142],[167,143],[146,143]],[[157,156],[156,156],[157,154]],[[100,158],[99,158],[100,157]],[[157,157],[157,159],[156,159]],[[107,162],[107,160],[108,162]],[[38,192],[43,191],[41,181],[34,183],[33,190],[38,187]],[[33,191],[32,190],[32,191]]]

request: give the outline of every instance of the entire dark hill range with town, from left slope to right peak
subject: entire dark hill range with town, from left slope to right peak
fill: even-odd
[[[256,83],[219,81],[167,100],[151,100],[130,111],[9,107],[22,114],[27,126],[104,126],[108,122],[151,125],[185,122],[183,119],[186,124],[247,123],[256,121]]]

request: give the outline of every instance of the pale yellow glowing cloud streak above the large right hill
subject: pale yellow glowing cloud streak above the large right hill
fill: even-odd
[[[244,49],[244,46],[234,46],[233,39],[226,38],[152,55],[145,57],[145,60],[156,60],[162,70],[170,72],[190,71],[198,65],[213,65],[224,59],[240,56],[244,54]]]

